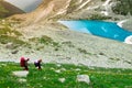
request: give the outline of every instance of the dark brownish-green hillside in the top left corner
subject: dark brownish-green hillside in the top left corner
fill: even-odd
[[[12,14],[19,14],[19,13],[24,13],[24,11],[10,4],[9,2],[0,0],[0,18],[7,18]]]

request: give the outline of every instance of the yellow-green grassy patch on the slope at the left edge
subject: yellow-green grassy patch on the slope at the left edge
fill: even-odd
[[[15,48],[22,45],[29,45],[26,42],[19,38],[20,36],[22,36],[22,34],[19,31],[13,30],[10,23],[4,22],[2,24],[1,22],[0,26],[1,26],[0,28],[0,43],[1,44],[12,43],[13,44],[12,48]]]

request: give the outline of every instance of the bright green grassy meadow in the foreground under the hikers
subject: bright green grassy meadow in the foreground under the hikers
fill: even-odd
[[[12,75],[15,70],[22,70],[19,64],[0,63],[0,88],[132,88],[132,69],[43,64],[43,69],[37,70],[33,64],[30,64],[26,82],[18,81],[19,77]],[[78,82],[77,75],[89,75],[90,85]],[[66,80],[61,82],[58,78]]]

